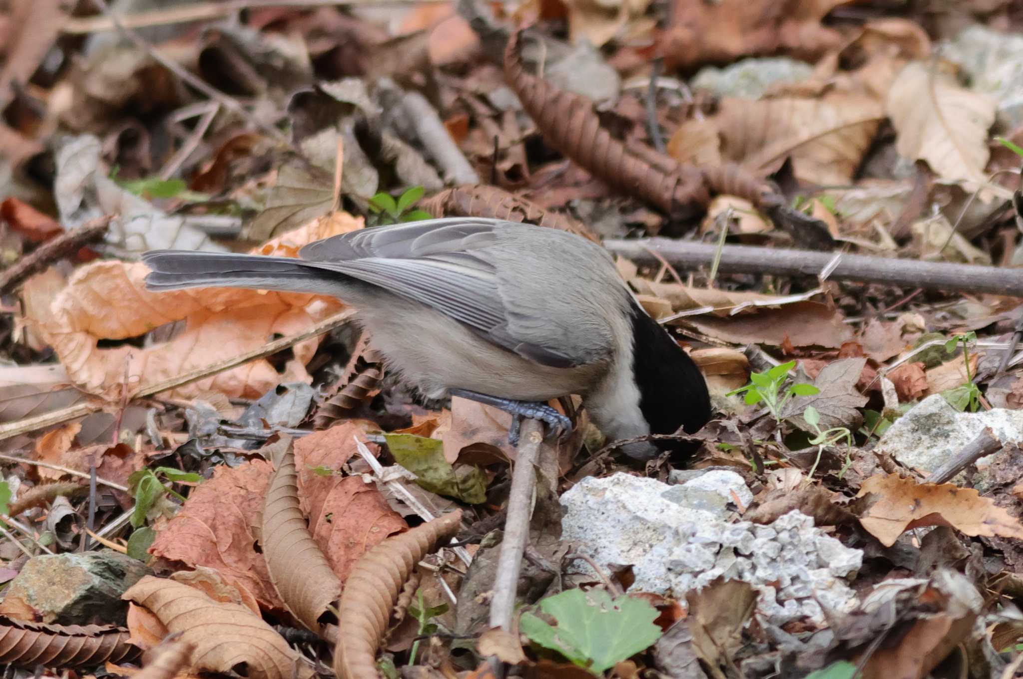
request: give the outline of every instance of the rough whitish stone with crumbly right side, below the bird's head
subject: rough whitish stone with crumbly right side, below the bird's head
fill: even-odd
[[[813,601],[818,590],[828,592],[830,611],[856,605],[842,578],[859,568],[861,551],[844,546],[799,512],[755,526],[671,501],[695,482],[669,487],[626,474],[584,479],[562,496],[562,537],[603,568],[631,564],[632,587],[639,591],[681,597],[717,577],[749,582],[765,594],[759,615],[776,625],[800,618],[824,623]],[[749,492],[745,485],[732,490],[741,496]],[[573,568],[590,573],[583,562]]]

